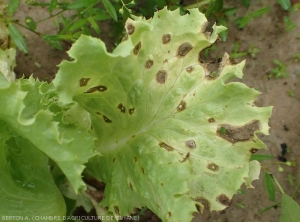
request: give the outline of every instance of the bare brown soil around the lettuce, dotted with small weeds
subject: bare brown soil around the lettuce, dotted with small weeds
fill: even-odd
[[[184,1],[187,4],[188,1]],[[192,2],[192,1],[190,1]],[[281,160],[288,160],[296,163],[296,166],[286,166],[284,162],[263,161],[262,167],[280,182],[284,191],[291,195],[295,189],[295,184],[299,180],[300,162],[300,61],[294,59],[296,53],[300,53],[300,13],[288,13],[284,11],[273,0],[251,1],[248,9],[238,5],[239,1],[227,1],[227,6],[239,6],[236,15],[231,18],[228,25],[229,34],[226,42],[218,43],[218,49],[212,51],[212,56],[217,58],[224,52],[233,52],[235,42],[240,43],[240,52],[245,52],[251,47],[256,47],[259,52],[255,56],[247,55],[242,59],[247,59],[242,82],[259,90],[262,94],[256,101],[258,106],[274,106],[273,115],[269,122],[271,126],[269,136],[260,136],[266,143],[268,150],[260,150],[259,154],[272,154],[282,156],[282,149],[285,146],[288,152]],[[233,20],[246,13],[253,12],[262,7],[270,7],[270,12],[260,18],[250,21],[242,30],[239,30]],[[25,16],[31,16],[39,20],[48,16],[46,9],[30,8],[22,5],[17,17],[24,21]],[[298,24],[292,31],[285,30],[284,16],[289,16],[291,20]],[[59,27],[55,25],[55,20],[39,23],[38,31],[42,33],[57,33]],[[111,49],[114,42],[109,35],[109,26],[102,27],[102,40]],[[26,42],[29,54],[21,52],[17,56],[17,67],[15,72],[18,77],[25,77],[33,74],[41,80],[51,81],[57,73],[57,65],[62,59],[68,56],[64,51],[51,48],[40,36],[26,30],[21,30],[26,34]],[[63,46],[66,50],[69,45]],[[270,70],[275,68],[273,60],[277,59],[287,65],[288,78],[268,78]],[[241,59],[238,59],[241,60]],[[277,163],[275,163],[277,162]],[[279,172],[278,167],[282,166],[284,171]],[[205,212],[197,215],[194,221],[222,221],[222,222],[271,222],[278,221],[280,217],[280,206],[274,206],[270,210],[260,213],[266,207],[274,204],[268,199],[264,186],[263,172],[260,179],[253,182],[255,189],[242,188],[244,194],[236,194],[231,206],[221,212]],[[294,177],[294,185],[288,178]],[[280,201],[281,194],[277,189],[276,201]],[[299,191],[295,200],[300,203]],[[147,212],[140,218],[140,221],[160,221],[151,212]]]

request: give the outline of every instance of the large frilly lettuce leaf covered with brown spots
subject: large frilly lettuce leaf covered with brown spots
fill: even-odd
[[[228,82],[242,77],[245,62],[231,64],[225,54],[209,76],[199,52],[225,28],[214,25],[208,36],[199,32],[207,20],[198,9],[179,13],[127,20],[127,40],[112,53],[81,36],[53,82],[59,104],[89,117],[103,156],[86,172],[106,184],[107,214],[146,206],[163,221],[191,221],[197,210],[226,208],[258,178],[250,151],[265,147],[256,134],[268,133],[271,107],[253,106],[257,91]]]

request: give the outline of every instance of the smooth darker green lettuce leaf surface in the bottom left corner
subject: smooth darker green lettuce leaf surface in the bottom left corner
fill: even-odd
[[[0,121],[0,218],[15,222],[56,216],[63,221],[64,199],[53,182],[48,158]],[[18,218],[20,217],[20,218]],[[60,219],[59,219],[60,218]],[[47,220],[48,221],[48,220]]]

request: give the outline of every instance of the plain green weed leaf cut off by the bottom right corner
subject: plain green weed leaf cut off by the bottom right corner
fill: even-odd
[[[300,221],[300,206],[290,196],[284,194],[281,200],[280,222]]]

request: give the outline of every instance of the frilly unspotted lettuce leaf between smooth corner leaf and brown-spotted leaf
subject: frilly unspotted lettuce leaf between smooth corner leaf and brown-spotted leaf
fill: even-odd
[[[96,155],[94,138],[83,127],[87,117],[77,110],[76,115],[81,119],[74,125],[70,119],[74,114],[55,102],[57,98],[52,88],[52,84],[36,81],[33,77],[0,84],[0,104],[3,106],[0,120],[52,159],[74,191],[79,192],[85,188],[81,178],[84,164]],[[69,119],[63,117],[63,110],[67,110]],[[82,121],[84,123],[80,124]]]

